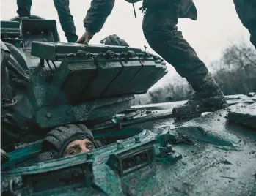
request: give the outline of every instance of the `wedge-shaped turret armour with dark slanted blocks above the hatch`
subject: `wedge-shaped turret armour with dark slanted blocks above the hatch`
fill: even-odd
[[[137,48],[32,42],[31,54],[36,120],[42,128],[126,110],[134,94],[147,92],[167,73],[162,59]]]

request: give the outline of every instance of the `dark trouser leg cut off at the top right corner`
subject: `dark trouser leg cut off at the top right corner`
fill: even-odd
[[[256,48],[256,1],[234,0],[234,4],[238,17],[251,34],[250,41]]]

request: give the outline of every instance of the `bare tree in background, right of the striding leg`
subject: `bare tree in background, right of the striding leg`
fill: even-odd
[[[224,49],[212,66],[221,67],[214,78],[224,94],[246,94],[256,91],[256,50],[244,41]]]

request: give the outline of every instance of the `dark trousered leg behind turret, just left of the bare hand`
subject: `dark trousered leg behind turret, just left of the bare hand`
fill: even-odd
[[[76,27],[73,21],[73,15],[70,13],[69,0],[54,0],[54,6],[59,15],[59,22],[62,30],[65,32],[67,42],[76,42],[78,36],[76,35]]]

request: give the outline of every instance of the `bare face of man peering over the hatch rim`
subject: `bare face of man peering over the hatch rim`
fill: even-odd
[[[92,151],[94,148],[95,146],[90,140],[75,140],[67,145],[63,157],[70,157],[75,154],[81,154],[88,151]]]

